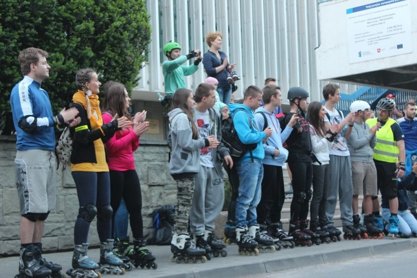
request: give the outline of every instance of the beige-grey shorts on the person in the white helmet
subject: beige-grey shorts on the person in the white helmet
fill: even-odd
[[[353,195],[376,196],[376,168],[373,162],[352,161]]]

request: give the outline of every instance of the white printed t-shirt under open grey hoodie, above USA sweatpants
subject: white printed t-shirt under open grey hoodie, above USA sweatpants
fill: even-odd
[[[198,135],[200,138],[206,138],[210,136],[211,128],[214,122],[210,120],[209,110],[201,113],[194,109],[194,121],[198,129]],[[209,147],[204,147],[200,150],[200,164],[206,167],[214,167],[213,159],[211,157],[212,150]]]

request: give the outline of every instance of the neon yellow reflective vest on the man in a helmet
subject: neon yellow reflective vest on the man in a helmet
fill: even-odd
[[[368,119],[366,122],[370,127],[374,126],[378,118]],[[376,146],[373,149],[373,159],[383,162],[398,162],[398,147],[394,140],[391,126],[395,120],[388,118],[387,122],[376,132]]]

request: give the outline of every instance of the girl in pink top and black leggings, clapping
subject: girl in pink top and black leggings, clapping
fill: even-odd
[[[130,227],[133,233],[134,250],[129,250],[129,237],[116,239],[118,255],[129,255],[134,265],[148,265],[156,268],[155,257],[146,248],[143,238],[143,221],[141,215],[142,194],[139,176],[135,169],[133,152],[138,149],[140,135],[148,129],[149,122],[145,121],[146,111],[137,113],[133,118],[128,112],[129,95],[124,86],[117,82],[108,84],[103,102],[103,122],[106,124],[114,115],[126,116],[133,122],[133,127],[120,130],[105,143],[109,157],[110,170],[110,205],[113,208],[112,234],[114,236],[114,219],[120,201],[126,204],[130,215]]]

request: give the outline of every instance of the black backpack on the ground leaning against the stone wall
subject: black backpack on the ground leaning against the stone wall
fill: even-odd
[[[148,244],[169,245],[171,244],[172,234],[175,223],[175,207],[164,205],[160,209],[152,212],[153,236],[148,239]]]

